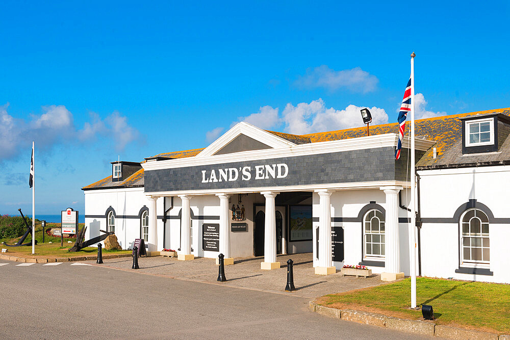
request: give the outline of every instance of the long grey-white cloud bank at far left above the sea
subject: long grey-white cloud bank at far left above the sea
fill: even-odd
[[[44,106],[42,114],[32,115],[28,121],[9,115],[8,106],[0,106],[0,161],[15,156],[21,148],[30,149],[32,141],[38,147],[46,148],[76,140],[89,142],[100,135],[113,139],[115,149],[121,151],[140,135],[118,112],[113,112],[105,120],[91,113],[91,121],[77,129],[72,113],[63,105]]]

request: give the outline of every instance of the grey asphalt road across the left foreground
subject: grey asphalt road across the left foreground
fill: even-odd
[[[95,266],[0,261],[0,338],[418,338],[308,311],[308,299]]]

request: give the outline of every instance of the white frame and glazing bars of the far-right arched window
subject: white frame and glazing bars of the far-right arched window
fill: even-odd
[[[466,214],[470,211],[475,211],[475,215],[469,219],[469,222],[464,222],[464,217],[466,216]],[[482,222],[480,220],[480,218],[476,215],[477,212],[483,214],[485,216],[485,218],[487,219],[487,222]],[[467,226],[470,226],[470,223],[471,223],[471,220],[474,219],[474,218],[477,218],[480,220],[480,233],[478,235],[474,234],[474,235],[471,235],[471,234],[465,234],[464,233],[464,225],[466,224]],[[461,267],[476,267],[476,268],[490,268],[490,264],[491,264],[491,261],[490,261],[490,249],[491,249],[491,246],[490,246],[490,233],[491,233],[491,224],[489,222],[489,216],[487,216],[487,214],[483,211],[481,211],[480,209],[477,209],[477,208],[470,208],[468,210],[466,210],[462,216],[461,216],[461,220],[460,220],[460,228],[459,228],[459,242],[460,242],[460,259],[461,259]],[[482,224],[487,224],[488,228],[489,228],[489,232],[487,233],[483,233],[483,226]],[[471,230],[469,230],[471,231]],[[471,232],[469,232],[471,233]],[[484,261],[484,260],[472,260],[472,259],[464,259],[464,239],[465,238],[469,238],[470,239],[470,245],[467,247],[469,249],[471,248],[481,248],[482,250],[482,259],[483,259],[483,249],[489,249],[489,260],[487,261]],[[479,238],[481,239],[480,240],[480,246],[472,246],[471,245],[471,240],[474,239],[474,238]],[[487,240],[487,242],[489,243],[489,246],[484,246],[484,240]],[[471,257],[471,256],[470,256]]]

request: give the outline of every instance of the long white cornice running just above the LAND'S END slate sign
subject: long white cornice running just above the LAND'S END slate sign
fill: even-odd
[[[436,142],[416,138],[416,149],[426,151]],[[242,151],[228,154],[217,154],[211,156],[198,155],[190,158],[165,160],[158,162],[142,163],[144,170],[161,170],[172,168],[184,168],[197,165],[226,164],[243,161],[257,161],[288,156],[303,156],[317,153],[331,153],[340,151],[372,149],[385,146],[396,147],[397,134],[375,135],[368,137],[350,138],[339,141],[317,142],[299,144],[287,148],[274,148],[264,150]],[[403,147],[410,145],[409,140],[404,137]]]

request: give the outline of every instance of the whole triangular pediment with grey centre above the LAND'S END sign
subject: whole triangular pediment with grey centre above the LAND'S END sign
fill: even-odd
[[[296,145],[257,126],[241,122],[224,133],[196,157],[291,147]]]

